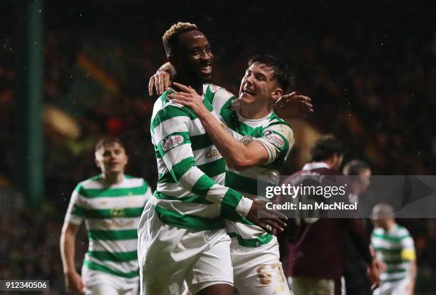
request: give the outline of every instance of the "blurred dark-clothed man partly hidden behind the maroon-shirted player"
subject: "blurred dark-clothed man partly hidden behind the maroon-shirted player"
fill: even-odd
[[[349,202],[358,202],[358,212],[363,211],[363,203],[359,202],[360,195],[365,192],[370,185],[371,170],[368,164],[362,160],[351,160],[343,166],[343,175],[351,175],[349,181],[351,192],[348,195]],[[361,216],[361,214],[359,214]],[[368,219],[360,219],[365,228],[368,227]],[[343,237],[344,250],[344,269],[346,294],[365,295],[373,294],[370,289],[371,284],[366,276],[367,265],[360,252],[355,247],[353,239],[345,232]]]

